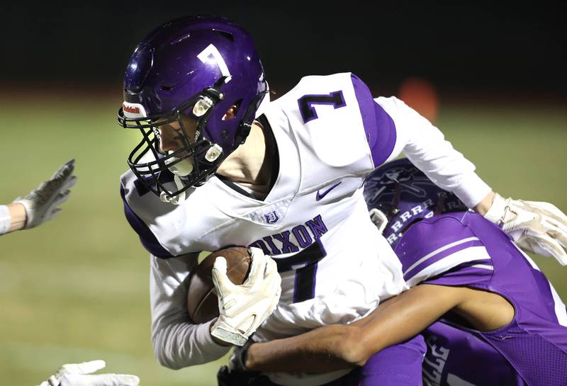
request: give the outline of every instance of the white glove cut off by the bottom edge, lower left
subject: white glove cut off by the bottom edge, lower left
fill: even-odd
[[[89,375],[104,368],[104,361],[62,365],[57,373],[40,386],[137,386],[140,378],[128,374],[97,374]]]

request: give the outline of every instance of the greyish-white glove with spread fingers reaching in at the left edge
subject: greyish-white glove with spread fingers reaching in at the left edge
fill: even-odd
[[[21,203],[26,208],[26,226],[30,229],[43,224],[61,212],[59,205],[69,198],[69,189],[77,182],[73,175],[75,160],[64,164],[53,174],[48,181],[41,183],[37,189],[31,191],[26,197],[18,197],[14,203]]]

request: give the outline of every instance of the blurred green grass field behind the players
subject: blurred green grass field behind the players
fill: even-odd
[[[120,96],[0,96],[0,203],[68,159],[79,178],[60,217],[0,238],[0,374],[38,385],[62,363],[105,359],[146,386],[215,385],[216,363],[161,368],[150,344],[148,255],[125,221],[118,177],[138,140],[116,125]],[[567,110],[444,104],[437,125],[502,195],[567,212]],[[567,300],[567,267],[534,256]]]

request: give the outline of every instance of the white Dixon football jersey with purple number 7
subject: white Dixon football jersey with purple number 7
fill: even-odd
[[[122,176],[128,220],[156,256],[232,245],[257,246],[272,256],[282,278],[281,300],[256,339],[354,322],[406,288],[400,262],[372,224],[362,195],[366,174],[404,149],[403,132],[391,118],[396,112],[386,112],[395,106],[377,101],[353,74],[307,76],[266,106],[279,173],[264,200],[213,176],[189,189],[181,205],[171,205],[128,171]],[[463,174],[470,174],[465,161]],[[167,319],[153,318],[155,324]],[[306,376],[301,383],[281,373],[270,378],[281,385],[320,385],[344,373]]]

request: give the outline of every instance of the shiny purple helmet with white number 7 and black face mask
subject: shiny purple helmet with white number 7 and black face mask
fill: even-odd
[[[130,169],[168,202],[202,185],[245,142],[266,92],[262,62],[239,26],[212,16],[159,26],[137,45],[126,67],[118,123],[143,136],[128,157]],[[237,111],[228,119],[231,106]],[[196,121],[195,135],[188,134],[187,118]],[[171,123],[179,123],[183,147],[164,154],[158,127]],[[183,162],[189,167],[179,167]],[[172,179],[176,190],[164,186]]]

